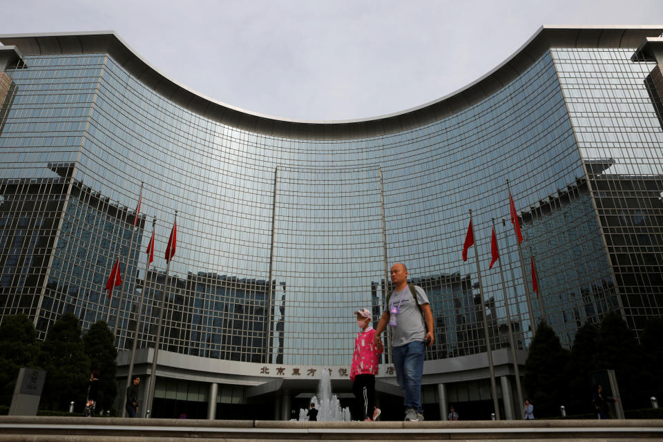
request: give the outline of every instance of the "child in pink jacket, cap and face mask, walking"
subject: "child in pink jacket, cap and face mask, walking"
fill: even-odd
[[[375,329],[371,327],[371,312],[360,309],[354,312],[357,315],[357,325],[361,332],[354,340],[354,354],[350,368],[350,381],[352,392],[357,398],[357,417],[360,421],[375,421],[380,416],[380,409],[375,406],[375,375],[378,374],[378,354],[385,351],[382,341],[378,345],[374,342]]]

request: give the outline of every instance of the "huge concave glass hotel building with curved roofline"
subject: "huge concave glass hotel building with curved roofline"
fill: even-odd
[[[541,318],[569,345],[608,311],[636,333],[663,314],[662,32],[544,26],[455,93],[338,122],[204,97],[114,33],[2,35],[0,314],[28,314],[41,338],[66,311],[84,329],[108,318],[120,374],[137,339],[146,381],[165,290],[153,416],[289,419],[323,370],[349,392],[353,311],[377,320],[403,262],[434,315],[429,419],[490,408],[481,296],[513,418],[507,309],[519,363]],[[461,257],[470,209],[481,278]],[[394,385],[387,353],[378,391],[397,405]]]

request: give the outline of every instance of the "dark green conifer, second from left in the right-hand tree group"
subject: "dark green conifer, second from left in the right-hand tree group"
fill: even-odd
[[[599,369],[596,364],[598,347],[599,329],[591,323],[585,323],[575,334],[566,365],[565,377],[568,382],[568,394],[565,406],[568,414],[594,412],[590,373]]]

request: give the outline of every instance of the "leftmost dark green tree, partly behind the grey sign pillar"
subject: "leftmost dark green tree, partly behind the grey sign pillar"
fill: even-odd
[[[26,315],[5,316],[0,325],[0,404],[10,405],[21,367],[36,368],[39,343]]]

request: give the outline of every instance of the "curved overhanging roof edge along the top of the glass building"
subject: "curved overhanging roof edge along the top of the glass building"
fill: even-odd
[[[662,32],[663,25],[544,25],[501,64],[452,93],[396,113],[340,120],[274,117],[207,97],[149,64],[115,31],[5,34],[0,41],[17,46],[24,55],[108,52],[139,81],[193,113],[265,135],[336,140],[387,135],[459,113],[506,86],[549,48],[638,48],[646,37],[659,37]]]

